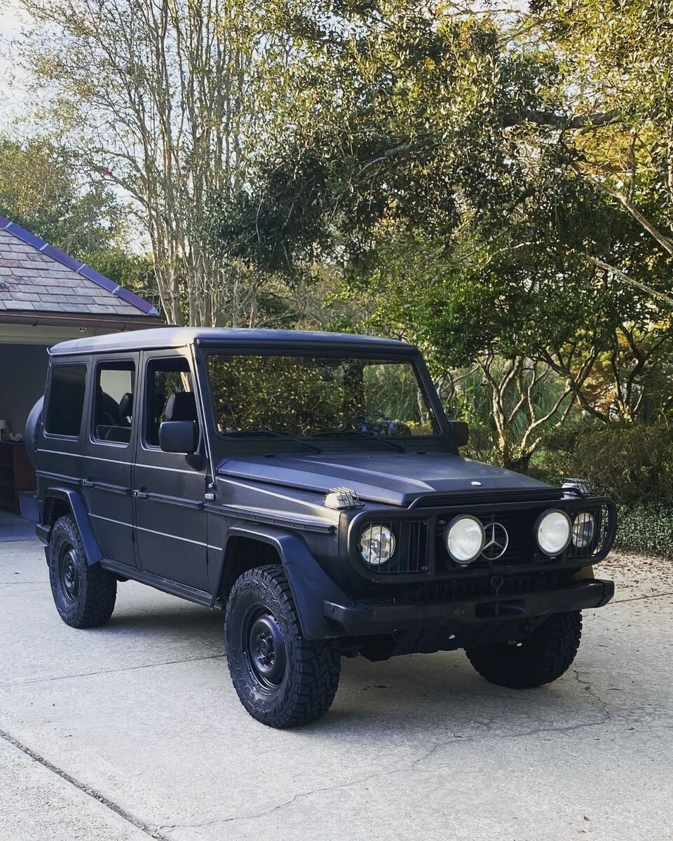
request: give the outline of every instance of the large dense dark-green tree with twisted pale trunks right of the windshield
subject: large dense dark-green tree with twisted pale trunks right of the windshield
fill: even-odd
[[[224,207],[225,248],[293,277],[341,267],[362,323],[420,342],[440,383],[475,362],[507,464],[575,404],[636,415],[670,319],[638,220],[586,177],[586,136],[614,112],[568,96],[531,20],[390,2],[341,15],[294,70],[303,119]]]

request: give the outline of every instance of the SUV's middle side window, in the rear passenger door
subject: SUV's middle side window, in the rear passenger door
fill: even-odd
[[[93,437],[96,441],[130,442],[134,387],[133,362],[103,362],[98,365],[93,394]]]

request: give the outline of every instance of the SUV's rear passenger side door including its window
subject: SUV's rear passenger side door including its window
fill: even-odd
[[[133,464],[139,355],[93,358],[82,484],[104,558],[135,566]]]

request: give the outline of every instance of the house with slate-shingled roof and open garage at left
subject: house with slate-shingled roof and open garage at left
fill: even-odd
[[[58,341],[156,327],[156,308],[0,216],[0,420],[23,432]]]

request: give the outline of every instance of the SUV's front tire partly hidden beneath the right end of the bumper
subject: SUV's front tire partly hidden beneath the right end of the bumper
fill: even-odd
[[[531,689],[557,680],[570,668],[581,636],[580,611],[554,613],[522,643],[468,648],[465,653],[474,669],[490,683]]]

